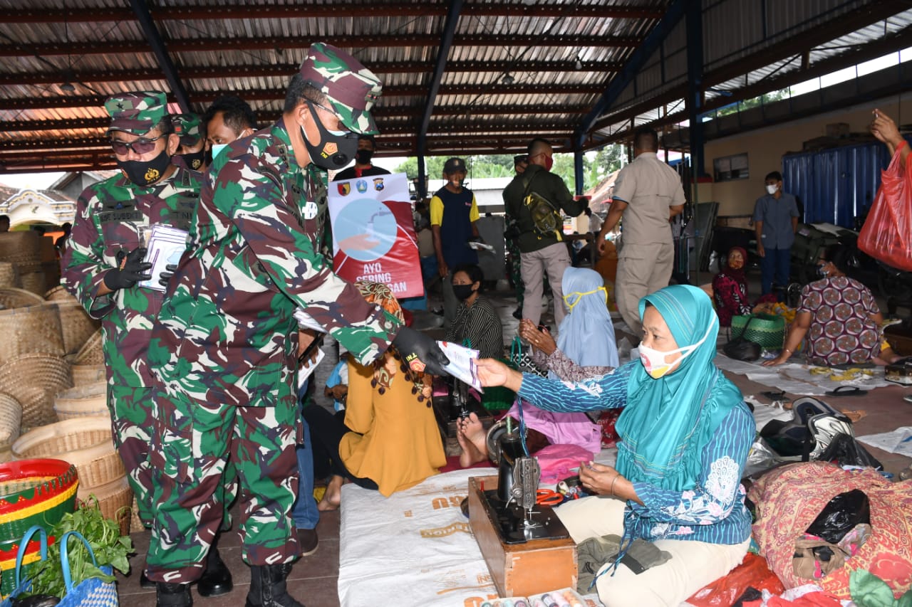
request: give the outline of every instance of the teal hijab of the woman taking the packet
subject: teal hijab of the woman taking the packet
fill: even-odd
[[[617,419],[617,471],[662,489],[693,489],[703,448],[743,397],[712,364],[719,317],[709,295],[695,286],[665,287],[639,301],[640,319],[647,303],[662,315],[678,347],[705,340],[658,379],[636,365],[627,384],[627,407]]]

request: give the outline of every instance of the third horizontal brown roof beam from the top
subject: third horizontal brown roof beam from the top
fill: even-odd
[[[575,61],[524,61],[507,64],[497,61],[450,61],[447,63],[447,72],[495,72],[501,73],[507,67],[511,73],[520,72],[570,72],[604,74],[616,72],[622,64],[616,61],[587,61],[582,69],[576,69]],[[430,72],[432,66],[420,61],[395,61],[371,63],[370,71],[375,74],[423,74]],[[287,78],[295,74],[297,66],[293,64],[279,65],[244,65],[226,67],[182,67],[181,77],[185,80],[194,79],[221,79],[238,77],[280,77]],[[98,70],[74,72],[72,79],[77,82],[125,82],[129,80],[155,80],[160,74],[150,68]],[[60,82],[60,73],[55,72],[17,72],[14,74],[0,74],[0,86],[4,85],[41,85],[57,84]]]

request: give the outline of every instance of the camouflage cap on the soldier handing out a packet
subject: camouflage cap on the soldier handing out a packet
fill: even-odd
[[[347,129],[355,133],[378,132],[370,108],[377,103],[383,84],[358,59],[336,46],[317,42],[307,49],[300,71],[307,84],[326,93]]]

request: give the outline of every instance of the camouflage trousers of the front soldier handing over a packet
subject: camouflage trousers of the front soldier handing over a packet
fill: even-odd
[[[228,406],[183,391],[155,396],[150,464],[157,505],[146,574],[199,579],[223,519],[223,475],[237,468],[242,556],[250,565],[300,554],[291,512],[297,498],[295,445],[301,423],[294,397],[275,406]]]

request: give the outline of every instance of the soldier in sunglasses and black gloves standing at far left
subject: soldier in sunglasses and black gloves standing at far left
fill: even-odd
[[[156,223],[189,230],[202,177],[171,164],[180,141],[165,103],[159,91],[125,93],[106,101],[112,118],[108,134],[122,172],[79,196],[62,260],[67,289],[92,318],[102,321],[114,442],[140,518],[147,523],[152,520],[148,456],[155,385],[147,349],[163,293],[137,285],[152,278],[143,244]],[[159,277],[153,280],[157,283]]]

